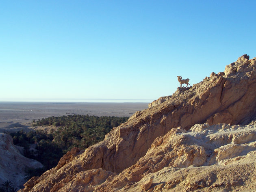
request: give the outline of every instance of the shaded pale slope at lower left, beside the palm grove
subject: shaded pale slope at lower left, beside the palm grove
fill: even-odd
[[[32,159],[24,157],[17,146],[13,145],[13,138],[0,133],[0,183],[10,180],[16,187],[22,188],[26,182],[25,168],[38,168],[43,165]]]

